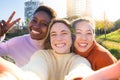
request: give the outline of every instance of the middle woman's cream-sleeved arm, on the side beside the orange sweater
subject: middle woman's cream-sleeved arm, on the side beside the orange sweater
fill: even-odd
[[[90,63],[83,57],[75,58],[73,61],[72,67],[65,77],[65,80],[74,80],[76,78],[84,78],[94,71],[90,67]],[[77,79],[76,79],[77,80]]]

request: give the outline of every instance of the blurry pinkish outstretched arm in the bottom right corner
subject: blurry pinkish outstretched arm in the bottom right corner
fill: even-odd
[[[93,74],[83,79],[76,78],[74,80],[115,80],[120,78],[120,61],[95,71]]]

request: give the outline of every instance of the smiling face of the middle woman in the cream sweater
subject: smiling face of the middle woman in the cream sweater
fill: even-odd
[[[50,30],[52,48],[57,53],[69,53],[72,45],[71,32],[64,23],[56,22]]]

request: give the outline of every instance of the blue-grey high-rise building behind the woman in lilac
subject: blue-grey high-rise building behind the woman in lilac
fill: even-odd
[[[41,1],[41,0],[30,0],[30,1],[26,1],[24,4],[25,4],[24,16],[25,16],[25,20],[27,20],[27,19],[31,19],[32,18],[32,15],[33,15],[34,11],[40,5],[43,4],[43,1]]]

